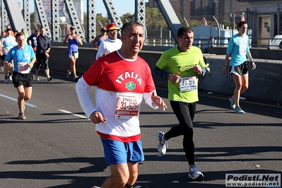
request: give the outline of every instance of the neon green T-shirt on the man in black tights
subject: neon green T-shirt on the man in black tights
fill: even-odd
[[[197,102],[198,98],[198,79],[199,75],[194,72],[193,68],[196,64],[206,67],[203,54],[199,47],[192,47],[189,52],[180,52],[177,46],[165,51],[158,62],[155,64],[158,68],[168,71],[169,74],[180,73],[180,77],[187,78],[194,76],[196,88],[188,91],[180,92],[180,82],[173,83],[168,80],[168,100],[180,102]]]

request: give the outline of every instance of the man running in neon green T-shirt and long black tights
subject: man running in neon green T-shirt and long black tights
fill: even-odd
[[[192,180],[204,177],[194,163],[193,124],[198,99],[198,79],[204,76],[208,66],[199,47],[193,47],[194,31],[182,27],[177,31],[179,45],[164,52],[155,64],[154,73],[168,80],[168,100],[180,122],[167,133],[159,131],[158,152],[165,154],[168,139],[184,135],[183,148],[189,163],[189,175]]]

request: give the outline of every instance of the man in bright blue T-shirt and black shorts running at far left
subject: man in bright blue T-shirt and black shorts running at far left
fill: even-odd
[[[33,48],[25,44],[24,33],[16,35],[18,45],[10,49],[4,61],[8,68],[14,67],[13,86],[18,91],[18,119],[25,119],[25,100],[30,100],[33,92],[33,73],[31,68],[36,61]],[[13,60],[13,62],[12,62]]]

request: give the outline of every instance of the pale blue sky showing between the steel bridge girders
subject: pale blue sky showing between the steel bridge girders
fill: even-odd
[[[22,0],[17,0],[23,4]],[[148,2],[148,0],[146,0]],[[125,13],[133,14],[135,11],[135,0],[112,0],[114,8],[116,8],[117,14],[119,16],[124,15]],[[83,0],[83,11],[86,12],[87,0]],[[107,11],[102,0],[95,0],[96,13],[102,13],[103,17],[107,17]],[[34,12],[34,0],[30,0],[30,12]]]

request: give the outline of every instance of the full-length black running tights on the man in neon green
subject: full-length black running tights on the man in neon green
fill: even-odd
[[[180,122],[179,125],[172,127],[165,134],[165,139],[171,139],[176,136],[183,136],[183,148],[189,165],[194,164],[194,141],[193,141],[193,119],[196,112],[196,102],[178,102],[170,101],[173,112]]]

